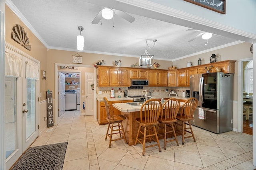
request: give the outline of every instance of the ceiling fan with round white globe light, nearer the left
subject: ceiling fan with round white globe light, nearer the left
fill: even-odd
[[[121,18],[124,18],[124,20],[129,21],[130,23],[132,23],[135,20],[134,17],[130,16],[126,12],[111,9],[111,8],[104,8],[100,10],[100,12],[94,18],[94,20],[92,20],[92,23],[98,24],[102,19],[102,17],[105,18],[106,20],[110,20],[113,18],[114,14],[116,14],[117,16],[120,16]]]

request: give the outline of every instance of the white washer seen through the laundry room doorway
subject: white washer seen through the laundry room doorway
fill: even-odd
[[[76,90],[65,90],[65,111],[76,110],[77,107],[77,96]]]

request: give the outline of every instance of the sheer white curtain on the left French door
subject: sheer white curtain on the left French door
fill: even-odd
[[[5,75],[22,77],[22,57],[5,52]]]

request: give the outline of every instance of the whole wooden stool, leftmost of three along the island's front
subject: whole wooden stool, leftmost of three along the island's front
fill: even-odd
[[[144,104],[142,104],[140,108],[140,118],[136,119],[136,121],[140,125],[139,125],[134,146],[136,146],[137,142],[143,145],[143,150],[142,150],[143,156],[145,154],[145,148],[148,148],[148,147],[154,147],[158,145],[159,152],[162,151],[158,141],[158,136],[156,133],[156,125],[159,124],[158,118],[160,116],[161,109],[162,109],[162,104],[160,100],[157,100],[157,99],[147,100],[146,102],[144,102]],[[141,128],[141,127],[144,127],[144,128]],[[140,133],[143,135],[143,138],[138,139]],[[156,139],[152,137],[155,137]],[[153,141],[157,142],[157,144],[149,145],[145,147],[146,139],[149,139],[150,143],[152,139]]]

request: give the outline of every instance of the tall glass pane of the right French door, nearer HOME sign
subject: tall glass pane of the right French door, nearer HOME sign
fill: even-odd
[[[27,78],[27,110],[26,113],[26,139],[36,131],[36,98],[35,85],[36,80]]]

